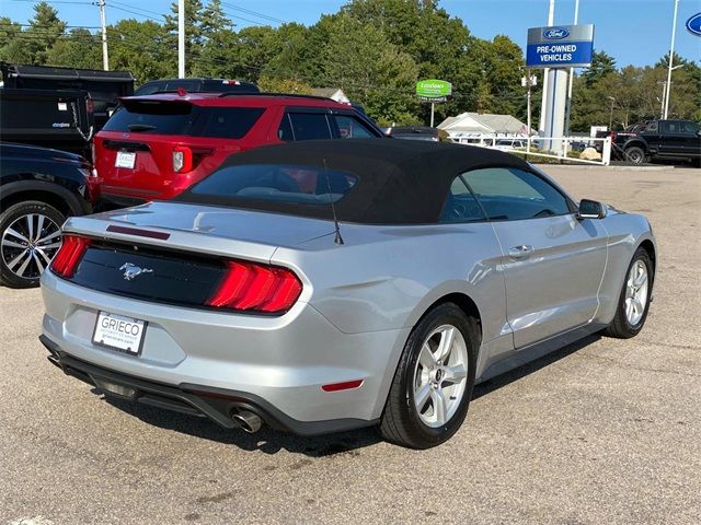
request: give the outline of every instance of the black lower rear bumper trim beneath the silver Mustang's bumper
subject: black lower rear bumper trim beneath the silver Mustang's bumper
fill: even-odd
[[[145,381],[72,358],[44,335],[39,336],[39,341],[49,351],[49,362],[66,375],[95,386],[106,396],[207,418],[226,429],[238,427],[231,413],[240,409],[256,413],[272,429],[308,436],[370,427],[378,422],[353,418],[298,421],[249,393],[186,383],[173,386]]]

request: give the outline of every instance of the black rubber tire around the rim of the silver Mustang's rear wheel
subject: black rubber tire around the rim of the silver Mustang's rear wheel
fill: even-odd
[[[468,350],[468,374],[462,400],[456,412],[439,428],[425,424],[414,407],[414,370],[426,338],[440,325],[457,327]],[[460,428],[468,413],[474,387],[474,366],[479,348],[479,329],[474,318],[464,315],[453,303],[444,303],[430,310],[414,327],[400,358],[379,431],[391,443],[410,448],[429,448],[448,441]]]

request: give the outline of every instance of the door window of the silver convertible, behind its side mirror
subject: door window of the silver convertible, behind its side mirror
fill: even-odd
[[[489,167],[468,172],[463,177],[493,221],[571,213],[564,195],[536,174],[514,167]]]

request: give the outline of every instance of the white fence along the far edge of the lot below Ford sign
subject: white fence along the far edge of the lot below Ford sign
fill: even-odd
[[[589,137],[494,137],[493,135],[473,135],[467,137],[449,137],[458,144],[480,145],[510,153],[522,153],[545,159],[566,160],[582,164],[608,166],[611,163],[610,137],[595,139]],[[599,159],[579,159],[568,156],[571,151],[594,148]]]

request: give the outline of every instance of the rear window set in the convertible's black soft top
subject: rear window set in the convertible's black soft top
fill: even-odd
[[[350,173],[312,166],[250,164],[222,167],[189,192],[215,199],[327,205],[350,191],[357,180]]]

